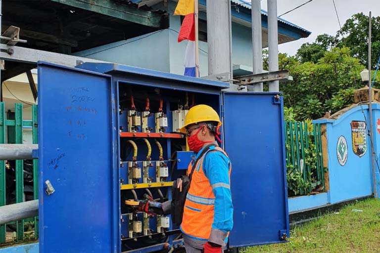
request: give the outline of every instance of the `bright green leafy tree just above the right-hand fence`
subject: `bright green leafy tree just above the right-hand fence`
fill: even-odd
[[[325,51],[317,63],[279,55],[280,68],[293,77],[281,83],[280,90],[285,106],[294,109],[295,120],[317,119],[353,102],[354,90],[363,87],[360,72],[365,67],[350,54],[348,47],[335,47]]]

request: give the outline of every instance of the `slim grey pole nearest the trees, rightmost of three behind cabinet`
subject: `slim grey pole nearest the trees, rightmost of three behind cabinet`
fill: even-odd
[[[268,0],[269,71],[279,70],[279,32],[277,27],[277,0]],[[279,81],[269,82],[269,91],[279,91]]]

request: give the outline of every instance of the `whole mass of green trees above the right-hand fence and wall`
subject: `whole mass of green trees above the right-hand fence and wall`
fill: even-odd
[[[372,18],[372,66],[380,56],[380,17]],[[322,34],[303,44],[296,56],[279,54],[279,69],[288,70],[293,81],[280,83],[291,120],[317,119],[353,103],[355,89],[363,87],[360,72],[367,67],[368,17],[363,13],[348,19],[336,36]],[[263,50],[264,69],[268,51]],[[380,75],[375,87],[380,86]]]

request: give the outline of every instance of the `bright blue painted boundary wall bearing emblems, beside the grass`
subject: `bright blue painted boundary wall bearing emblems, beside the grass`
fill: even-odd
[[[380,120],[380,106],[373,104],[374,147],[380,157],[380,128],[377,131],[377,120]],[[370,196],[373,193],[371,142],[367,136],[367,152],[359,157],[352,149],[352,121],[369,122],[368,105],[351,108],[336,120],[321,119],[315,123],[326,124],[328,140],[328,169],[330,189],[327,193],[315,196],[289,198],[289,212],[303,211],[329,204],[344,202],[351,199]],[[369,126],[367,126],[369,127]],[[341,166],[337,159],[337,141],[343,135],[347,141],[347,162]],[[379,162],[380,164],[380,162]],[[380,173],[375,164],[377,189],[380,191]]]

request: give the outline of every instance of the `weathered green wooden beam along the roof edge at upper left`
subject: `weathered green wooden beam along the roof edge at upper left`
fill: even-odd
[[[110,0],[50,0],[129,22],[160,28],[162,15]]]

